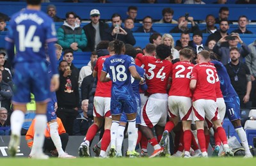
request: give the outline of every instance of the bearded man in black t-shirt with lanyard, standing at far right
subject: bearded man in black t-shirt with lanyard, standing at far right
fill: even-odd
[[[240,50],[236,47],[230,49],[230,63],[226,64],[228,75],[231,80],[231,84],[236,90],[239,96],[240,107],[249,108],[246,103],[250,100],[250,92],[252,89],[251,73],[246,64],[239,61]]]

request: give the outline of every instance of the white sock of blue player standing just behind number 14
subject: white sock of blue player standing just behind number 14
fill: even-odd
[[[56,147],[57,151],[58,151],[58,155],[63,155],[65,152],[62,149],[62,144],[61,144],[61,139],[60,139],[60,135],[58,132],[58,123],[54,122],[49,124],[50,126],[50,134],[51,134],[51,139],[52,142],[54,143],[54,146]]]

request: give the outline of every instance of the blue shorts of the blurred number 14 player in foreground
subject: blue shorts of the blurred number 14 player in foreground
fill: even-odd
[[[13,103],[29,103],[30,93],[36,102],[49,101],[50,79],[45,62],[16,63],[13,83]]]

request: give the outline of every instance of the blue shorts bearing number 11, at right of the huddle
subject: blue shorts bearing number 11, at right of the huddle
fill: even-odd
[[[224,98],[226,104],[226,116],[230,121],[241,119],[240,100],[238,96]]]

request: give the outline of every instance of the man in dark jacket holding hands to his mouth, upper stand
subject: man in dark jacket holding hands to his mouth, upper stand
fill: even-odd
[[[112,26],[106,29],[105,34],[103,36],[103,40],[113,41],[120,40],[124,41],[124,43],[129,43],[131,45],[135,45],[136,40],[132,34],[132,32],[123,28],[121,16],[118,13],[114,13],[111,17]]]

